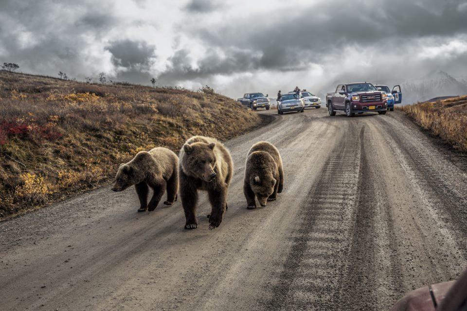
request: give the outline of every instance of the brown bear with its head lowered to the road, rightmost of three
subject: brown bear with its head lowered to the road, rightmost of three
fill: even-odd
[[[254,144],[247,155],[243,180],[247,208],[256,208],[255,196],[265,207],[267,201],[274,201],[283,188],[284,170],[279,150],[266,141]]]

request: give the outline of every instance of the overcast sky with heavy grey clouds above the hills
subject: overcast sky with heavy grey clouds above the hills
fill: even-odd
[[[466,76],[467,0],[0,0],[0,62],[234,98]]]

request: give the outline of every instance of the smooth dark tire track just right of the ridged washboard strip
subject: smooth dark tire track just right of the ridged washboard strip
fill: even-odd
[[[403,282],[402,263],[395,256],[397,232],[392,207],[385,181],[380,180],[385,163],[377,154],[375,129],[369,125],[363,125],[359,135],[358,199],[338,299],[338,305],[348,311],[389,310]]]

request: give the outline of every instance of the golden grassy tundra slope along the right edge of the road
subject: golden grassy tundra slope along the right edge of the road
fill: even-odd
[[[467,152],[467,96],[400,107],[417,124]]]

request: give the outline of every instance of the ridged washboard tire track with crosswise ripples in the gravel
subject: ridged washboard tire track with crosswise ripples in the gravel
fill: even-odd
[[[359,136],[352,126],[328,155],[321,178],[308,192],[299,229],[268,310],[337,310],[342,264],[359,179]]]

